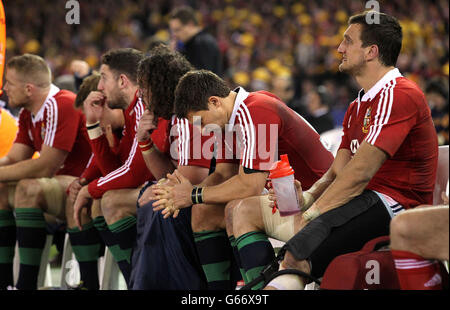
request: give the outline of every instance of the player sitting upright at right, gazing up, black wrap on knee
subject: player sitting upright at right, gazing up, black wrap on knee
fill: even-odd
[[[306,225],[284,247],[282,269],[316,278],[336,256],[389,235],[402,209],[433,201],[437,135],[423,92],[395,68],[401,26],[383,13],[376,13],[380,23],[368,24],[366,14],[349,19],[338,48],[340,71],[362,89],[347,109],[330,170],[308,191],[318,199],[303,214]],[[302,289],[305,281],[283,275],[266,288]]]

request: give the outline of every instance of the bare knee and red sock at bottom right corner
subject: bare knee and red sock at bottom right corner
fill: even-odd
[[[438,260],[449,259],[447,206],[416,207],[391,222],[391,253],[400,288],[440,290],[443,271]]]

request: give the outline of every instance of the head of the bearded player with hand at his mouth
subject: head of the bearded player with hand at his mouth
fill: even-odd
[[[98,90],[106,97],[111,109],[126,109],[127,93],[137,89],[137,68],[144,53],[132,48],[108,51],[102,56]]]

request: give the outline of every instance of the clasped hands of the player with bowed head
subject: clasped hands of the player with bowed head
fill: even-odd
[[[178,170],[168,174],[167,178],[174,184],[173,186],[158,185],[155,187],[154,191],[158,201],[153,204],[153,208],[161,210],[162,206],[168,205],[172,209],[181,209],[192,206],[191,193],[194,186],[191,182]]]

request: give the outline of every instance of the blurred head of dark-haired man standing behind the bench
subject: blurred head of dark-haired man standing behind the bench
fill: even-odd
[[[188,41],[196,32],[198,25],[195,11],[191,7],[181,6],[170,13],[169,28],[175,39],[179,41]]]

